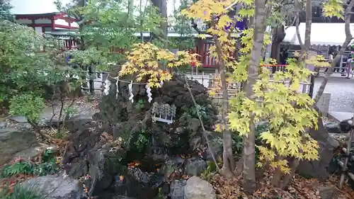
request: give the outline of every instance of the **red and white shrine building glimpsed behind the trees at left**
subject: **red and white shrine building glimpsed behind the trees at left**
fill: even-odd
[[[11,0],[13,6],[12,13],[16,16],[16,21],[23,25],[33,27],[40,34],[47,33],[57,37],[62,41],[62,47],[72,49],[76,46],[76,41],[71,38],[70,33],[79,28],[75,18],[70,18],[65,13],[61,13],[55,6],[56,0]],[[59,0],[62,4],[67,4],[70,0]],[[197,22],[201,30],[205,30],[205,25]],[[139,37],[139,33],[136,34]],[[190,36],[197,37],[198,33]],[[173,28],[169,28],[168,37],[180,37]],[[144,38],[150,38],[150,33],[144,33]],[[212,42],[196,39],[195,51],[200,55],[202,67],[217,67],[214,58],[208,55],[209,47]],[[118,50],[113,50],[117,52]]]

